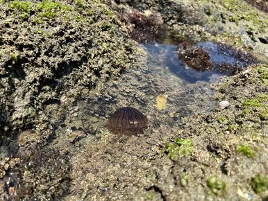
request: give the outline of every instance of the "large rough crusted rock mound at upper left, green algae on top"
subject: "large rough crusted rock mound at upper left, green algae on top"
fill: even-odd
[[[37,128],[47,118],[44,107],[72,103],[131,66],[133,45],[106,5],[26,2],[27,12],[19,6],[1,3],[0,125],[10,131]]]

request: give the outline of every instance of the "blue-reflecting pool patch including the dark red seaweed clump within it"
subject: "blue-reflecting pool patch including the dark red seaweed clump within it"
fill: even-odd
[[[189,83],[215,82],[219,78],[241,71],[248,62],[252,62],[242,53],[213,42],[184,44],[185,52],[181,55],[178,55],[178,51],[181,51],[181,49],[178,50],[180,45],[142,44],[142,47],[149,53],[149,67],[152,68],[156,64],[166,67],[178,78]],[[206,54],[207,57],[202,57],[202,55],[199,57],[199,53],[192,53],[196,49],[201,52],[200,54]],[[207,61],[206,58],[208,58]],[[206,62],[208,65],[210,64],[210,68],[205,66]],[[194,65],[198,65],[198,67],[195,68]]]

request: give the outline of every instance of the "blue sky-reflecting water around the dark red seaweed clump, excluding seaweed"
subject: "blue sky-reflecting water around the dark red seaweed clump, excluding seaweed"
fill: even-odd
[[[150,55],[149,66],[151,68],[153,68],[153,64],[158,62],[158,64],[167,67],[171,73],[188,83],[218,81],[219,78],[224,77],[224,73],[220,73],[219,69],[217,69],[217,65],[222,63],[240,67],[246,66],[246,61],[238,58],[233,49],[225,48],[213,42],[199,42],[195,46],[208,53],[210,62],[215,65],[215,69],[212,71],[197,71],[188,67],[187,64],[178,58],[178,46],[176,45],[142,44],[142,48]]]

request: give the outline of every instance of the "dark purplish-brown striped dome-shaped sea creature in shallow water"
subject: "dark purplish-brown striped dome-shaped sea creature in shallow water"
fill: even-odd
[[[133,107],[121,107],[110,116],[107,125],[112,132],[138,134],[147,127],[148,119]]]

